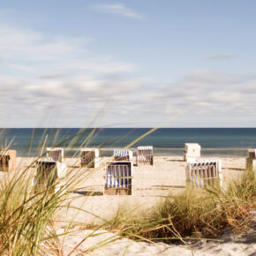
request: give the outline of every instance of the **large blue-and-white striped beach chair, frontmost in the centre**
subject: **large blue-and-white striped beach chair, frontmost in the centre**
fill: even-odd
[[[106,163],[104,194],[132,195],[132,161]]]

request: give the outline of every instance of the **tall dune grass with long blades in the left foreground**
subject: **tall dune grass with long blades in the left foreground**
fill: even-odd
[[[72,138],[63,140],[51,147],[66,143],[72,148],[79,139],[84,139],[87,131],[81,130]],[[89,139],[94,136],[95,129],[89,132],[81,144],[87,147]],[[41,189],[35,189],[33,185],[36,162],[44,158],[42,147],[47,147],[47,139],[43,133],[40,146],[37,148],[39,154],[28,166],[17,166],[10,173],[1,173],[0,180],[0,255],[45,255],[51,252],[61,255],[61,248],[58,248],[59,236],[64,236],[72,229],[72,223],[64,222],[66,228],[64,233],[56,234],[56,214],[68,209],[71,204],[70,195],[79,189],[82,179],[87,178],[92,172],[87,172],[87,167],[72,168],[66,166],[66,176],[54,178],[55,170],[50,173],[48,181]],[[57,134],[51,134],[56,141]],[[46,139],[44,139],[46,138]],[[29,143],[27,152],[29,155],[34,136]],[[73,157],[77,159],[79,149]],[[73,163],[73,162],[72,162]],[[78,162],[75,164],[78,165]],[[57,189],[56,189],[57,188]]]

